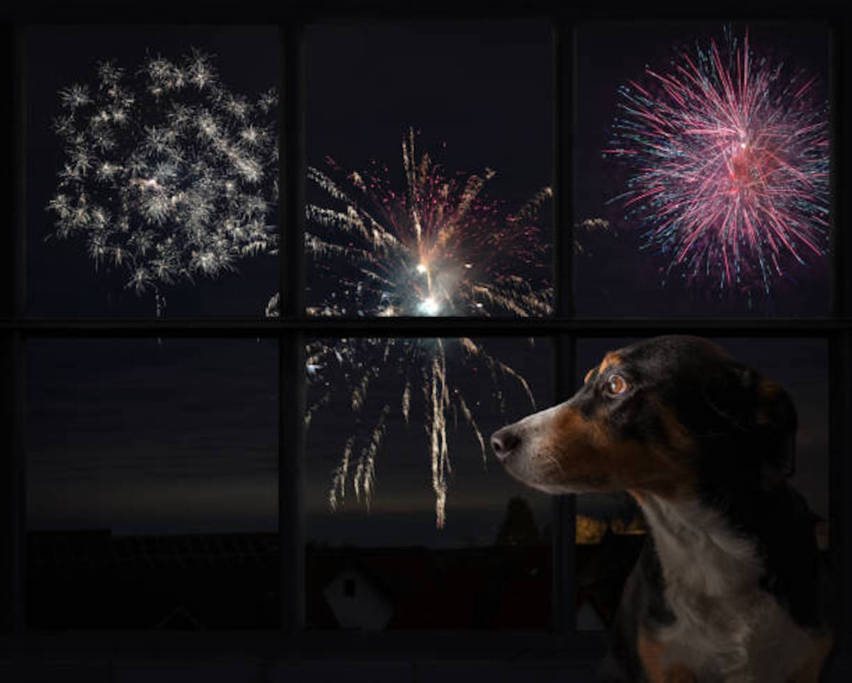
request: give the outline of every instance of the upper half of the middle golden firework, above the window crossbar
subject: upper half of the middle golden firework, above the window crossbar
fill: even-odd
[[[311,315],[548,315],[552,292],[538,211],[544,188],[519,211],[483,196],[494,176],[447,177],[428,154],[417,159],[413,130],[402,141],[406,183],[395,188],[376,163],[308,177],[343,210],[308,204],[306,248],[338,283]]]

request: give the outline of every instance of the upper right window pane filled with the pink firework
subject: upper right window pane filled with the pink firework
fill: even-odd
[[[576,38],[578,314],[827,315],[826,26]]]

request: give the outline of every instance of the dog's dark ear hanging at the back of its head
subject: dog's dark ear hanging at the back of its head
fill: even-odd
[[[792,398],[780,385],[759,375],[754,379],[753,424],[757,447],[765,459],[766,483],[771,487],[795,472],[798,416]]]

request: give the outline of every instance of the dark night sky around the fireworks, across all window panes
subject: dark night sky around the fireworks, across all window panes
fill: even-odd
[[[677,27],[647,32],[585,26],[578,33],[578,130],[575,196],[578,219],[602,215],[611,174],[600,147],[612,120],[614,90],[636,76]],[[775,33],[768,35],[776,35]],[[825,35],[796,28],[797,59],[826,74]],[[613,51],[618,45],[618,51]],[[274,28],[151,27],[32,31],[26,46],[27,228],[29,313],[60,317],[152,316],[153,298],[124,288],[124,273],[95,272],[82,240],[51,234],[44,210],[60,167],[50,122],[56,93],[74,81],[94,83],[95,63],[114,59],[132,69],[147,51],[172,58],[191,46],[216,55],[222,80],[246,95],[278,84]],[[491,196],[519,205],[552,182],[550,27],[511,22],[450,26],[311,26],[307,34],[307,160],[330,155],[346,168],[385,162],[403,182],[400,141],[410,126],[418,145],[451,171],[497,171]],[[642,55],[649,55],[643,57]],[[614,220],[612,216],[607,216]],[[550,225],[545,225],[550,229]],[[660,292],[655,269],[636,258],[636,234],[618,224],[623,240],[594,243],[578,263],[580,315],[768,315],[726,307],[702,292]],[[815,269],[817,270],[817,269]],[[327,287],[308,281],[308,287]],[[260,317],[277,290],[277,262],[256,257],[215,281],[199,278],[166,292],[166,316]],[[697,304],[696,302],[699,302]],[[827,277],[781,287],[774,311],[826,312]],[[597,362],[617,340],[579,344],[579,370]],[[726,342],[792,391],[800,412],[797,483],[815,509],[827,512],[827,368],[824,344],[810,341]],[[533,387],[538,407],[553,401],[550,344],[494,343],[502,360]],[[582,373],[580,373],[582,376]],[[276,519],[277,352],[273,341],[78,340],[32,341],[27,349],[27,458],[32,528],[112,528],[115,533],[273,530]],[[531,411],[517,387],[504,386],[500,414],[489,381],[460,380],[486,435]],[[374,402],[398,402],[400,387],[377,386]],[[339,397],[337,397],[339,399]],[[447,525],[435,530],[423,401],[406,425],[397,411],[377,464],[369,516],[351,489],[343,512],[327,512],[331,470],[355,428],[345,411],[319,414],[308,435],[308,539],[355,545],[489,545],[510,495],[523,495],[539,528],[550,500],[514,483],[460,423],[451,431],[455,472]],[[348,420],[348,421],[347,421]],[[597,503],[590,503],[596,510]]]

